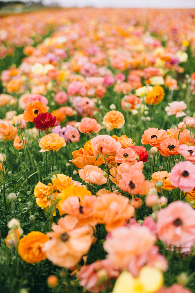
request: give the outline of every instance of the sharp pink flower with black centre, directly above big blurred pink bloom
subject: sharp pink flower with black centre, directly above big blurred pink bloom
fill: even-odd
[[[188,192],[195,187],[195,165],[189,161],[179,162],[171,170],[170,183]]]

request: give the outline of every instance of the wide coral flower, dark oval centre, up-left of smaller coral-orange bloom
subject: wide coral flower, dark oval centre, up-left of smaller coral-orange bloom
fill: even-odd
[[[150,144],[152,147],[159,147],[160,143],[166,138],[168,138],[168,135],[166,134],[165,130],[158,130],[158,128],[151,127],[147,130],[144,130],[141,143]]]

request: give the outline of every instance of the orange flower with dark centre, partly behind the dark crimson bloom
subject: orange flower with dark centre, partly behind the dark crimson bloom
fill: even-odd
[[[26,110],[24,111],[24,120],[26,120],[26,122],[33,122],[37,115],[46,112],[48,112],[46,105],[40,101],[32,101],[26,106]]]

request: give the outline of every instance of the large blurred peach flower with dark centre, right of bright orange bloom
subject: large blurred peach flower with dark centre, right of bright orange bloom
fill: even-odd
[[[51,239],[42,250],[54,265],[72,268],[89,251],[95,240],[94,230],[90,226],[77,227],[77,224],[78,219],[69,215],[59,219],[58,225],[52,224],[53,232],[47,233]]]

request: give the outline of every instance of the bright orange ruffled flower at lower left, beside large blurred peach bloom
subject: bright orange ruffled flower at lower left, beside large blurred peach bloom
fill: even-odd
[[[39,231],[32,231],[20,239],[18,243],[18,253],[26,263],[38,263],[45,260],[46,255],[42,247],[49,237]]]

